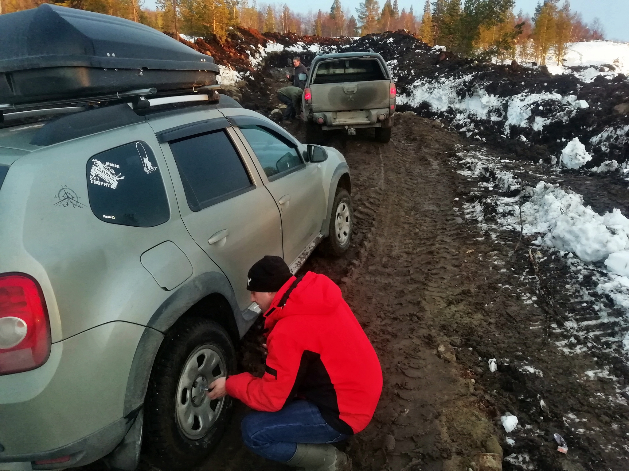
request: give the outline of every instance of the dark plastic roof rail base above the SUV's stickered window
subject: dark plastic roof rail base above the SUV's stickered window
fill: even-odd
[[[50,146],[143,121],[126,103],[92,109],[48,121],[33,136],[31,144]]]

